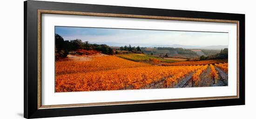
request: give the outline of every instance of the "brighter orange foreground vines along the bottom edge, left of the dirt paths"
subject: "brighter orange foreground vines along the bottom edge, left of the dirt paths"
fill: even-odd
[[[141,89],[150,83],[165,80],[166,87],[176,83],[202,66],[147,66],[135,68],[111,69],[94,72],[79,72],[56,75],[55,91],[93,91],[93,90],[119,90],[132,87]]]

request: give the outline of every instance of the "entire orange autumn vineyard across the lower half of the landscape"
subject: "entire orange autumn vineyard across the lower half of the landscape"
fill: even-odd
[[[148,60],[162,62],[152,57],[148,57]],[[228,71],[228,63],[224,62],[188,61],[177,62],[181,64],[176,66],[156,66],[133,62],[121,56],[95,56],[88,61],[58,61],[55,62],[55,92],[201,87],[203,80],[209,80],[209,86],[213,86],[213,82],[222,81],[218,73],[225,75]],[[223,71],[218,72],[215,67]]]

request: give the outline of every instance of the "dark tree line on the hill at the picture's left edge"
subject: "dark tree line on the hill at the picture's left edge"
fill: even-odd
[[[113,49],[106,44],[89,44],[88,41],[82,42],[80,39],[68,41],[55,34],[55,56],[67,57],[70,51],[78,49],[98,50],[103,54],[113,54]]]

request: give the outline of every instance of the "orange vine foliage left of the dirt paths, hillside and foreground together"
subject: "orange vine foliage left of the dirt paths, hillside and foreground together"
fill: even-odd
[[[116,56],[94,57],[90,61],[56,62],[55,91],[141,89],[164,80],[165,86],[202,66],[152,66]]]

